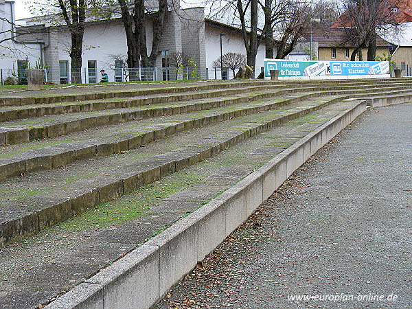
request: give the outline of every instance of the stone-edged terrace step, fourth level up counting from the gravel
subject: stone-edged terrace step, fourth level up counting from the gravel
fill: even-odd
[[[71,113],[60,116],[43,116],[38,118],[24,119],[22,121],[5,122],[0,127],[0,145],[18,144],[23,141],[43,139],[66,135],[78,130],[85,130],[95,126],[107,124],[119,124],[150,117],[161,117],[164,115],[176,115],[192,111],[202,111],[209,108],[228,106],[261,98],[271,98],[284,93],[295,93],[299,89],[279,91],[255,91],[255,93],[225,96],[217,100],[196,100],[172,103],[140,106],[136,108],[121,108],[110,111],[95,111]],[[302,89],[308,90],[308,89]],[[2,144],[3,143],[3,144]]]

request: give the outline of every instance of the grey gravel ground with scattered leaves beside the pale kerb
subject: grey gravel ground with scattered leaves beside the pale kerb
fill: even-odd
[[[359,117],[157,308],[412,308],[411,114]]]

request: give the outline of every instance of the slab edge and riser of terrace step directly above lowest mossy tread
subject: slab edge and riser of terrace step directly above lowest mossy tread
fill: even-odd
[[[317,111],[335,100],[321,103],[310,102],[310,104],[299,105],[280,113],[266,111],[260,117],[255,118],[254,122],[236,125],[230,129],[216,132],[213,136],[203,137],[196,145],[178,148],[148,159],[129,161],[124,168],[100,174],[94,179],[73,181],[60,190],[53,187],[52,196],[54,197],[21,198],[15,203],[3,205],[0,215],[2,218],[0,244],[7,244],[36,233],[56,222],[80,214],[85,209],[99,203],[133,192],[141,185],[152,183],[188,165],[216,155],[218,152],[258,133],[270,130],[274,126]],[[347,104],[353,103],[347,102]],[[30,181],[33,183],[34,179],[30,179]],[[39,181],[41,180],[39,179]],[[3,183],[3,185],[7,185],[7,183]]]

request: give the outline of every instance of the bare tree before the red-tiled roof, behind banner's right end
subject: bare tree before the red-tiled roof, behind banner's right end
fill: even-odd
[[[343,0],[345,12],[334,26],[344,28],[347,40],[356,45],[351,61],[366,47],[367,60],[375,60],[376,36],[400,29],[405,5],[400,0]]]

